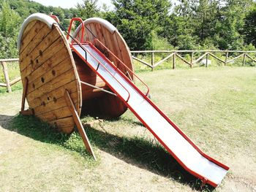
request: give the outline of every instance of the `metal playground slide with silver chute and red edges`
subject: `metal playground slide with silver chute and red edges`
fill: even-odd
[[[110,89],[125,101],[129,110],[154,134],[154,137],[184,169],[203,180],[203,183],[214,187],[221,183],[229,168],[203,153],[94,45],[83,44],[83,48],[76,44],[70,46],[109,85]]]

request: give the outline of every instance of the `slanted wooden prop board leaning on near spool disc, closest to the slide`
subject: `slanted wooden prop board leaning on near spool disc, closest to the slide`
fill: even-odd
[[[96,160],[96,157],[94,155],[94,151],[92,150],[91,144],[90,144],[89,139],[86,135],[86,131],[84,131],[84,129],[83,129],[83,125],[80,122],[78,112],[76,112],[76,110],[75,110],[75,105],[73,104],[73,101],[72,101],[68,91],[66,91],[65,99],[67,101],[70,112],[72,112],[73,120],[75,120],[75,125],[77,126],[79,134],[83,139],[83,143],[86,146],[86,150],[89,153],[91,153],[91,155],[94,157],[94,160]]]

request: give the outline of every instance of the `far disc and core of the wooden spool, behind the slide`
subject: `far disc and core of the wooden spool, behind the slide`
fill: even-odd
[[[107,20],[103,20],[101,18],[89,18],[83,21],[85,26],[84,34],[82,35],[82,25],[78,26],[75,30],[74,37],[78,39],[80,42],[91,42],[95,45],[102,53],[105,54],[110,61],[113,62],[118,69],[121,70],[124,74],[127,74],[132,80],[133,75],[129,72],[125,66],[123,66],[114,56],[116,55],[129,69],[134,72],[134,68],[132,65],[132,56],[129,51],[129,47],[127,43],[124,41],[124,38],[121,37],[116,27],[114,27]],[[83,37],[83,39],[81,39]],[[112,52],[111,54],[108,50],[104,49],[95,39],[99,39],[105,47],[108,47],[108,50]],[[108,86],[105,82],[94,74],[89,69],[85,69],[83,66],[83,61],[73,53],[75,63],[77,64],[78,74],[80,76],[80,80],[85,82],[95,82],[95,84],[100,88],[105,88],[108,90]],[[89,74],[90,73],[90,74]],[[87,74],[87,76],[85,75]],[[90,76],[91,75],[91,76]],[[126,110],[127,106],[124,104],[121,99],[118,99],[116,96],[112,96],[108,93],[99,92],[97,96],[89,94],[89,92],[94,91],[92,88],[89,88],[86,85],[82,85],[82,93],[83,93],[83,109],[88,112],[96,112],[103,116],[108,117],[118,117],[122,115]],[[86,99],[91,98],[91,101],[86,101]]]

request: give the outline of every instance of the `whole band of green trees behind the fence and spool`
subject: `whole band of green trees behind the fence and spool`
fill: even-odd
[[[256,46],[256,3],[252,0],[113,0],[114,9],[97,0],[75,8],[45,7],[34,1],[0,0],[0,58],[18,56],[20,25],[34,12],[57,15],[67,28],[73,17],[105,18],[131,50],[241,50]],[[12,18],[12,19],[10,19]]]

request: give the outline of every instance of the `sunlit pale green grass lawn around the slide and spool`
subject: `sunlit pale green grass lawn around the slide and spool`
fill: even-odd
[[[230,166],[217,191],[256,190],[256,68],[139,72],[151,99],[204,152]],[[141,86],[138,83],[138,86]],[[0,91],[0,191],[193,191],[200,181],[179,166],[132,112],[82,117],[98,157],[78,132],[59,134],[13,114],[21,90]],[[203,191],[212,191],[206,186]]]

